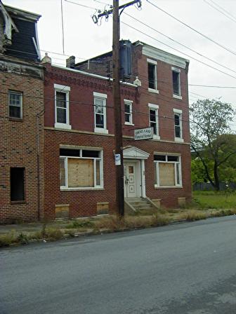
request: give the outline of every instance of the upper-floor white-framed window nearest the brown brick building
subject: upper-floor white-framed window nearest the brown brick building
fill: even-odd
[[[69,93],[70,87],[54,84],[55,90],[55,128],[69,128]]]

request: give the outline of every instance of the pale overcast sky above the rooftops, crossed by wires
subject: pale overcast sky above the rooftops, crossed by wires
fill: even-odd
[[[120,0],[125,4],[131,0]],[[152,46],[166,50],[175,55],[180,55],[190,60],[189,83],[207,86],[231,86],[236,87],[236,0],[148,0],[170,13],[178,20],[185,22],[190,27],[216,41],[221,48],[212,41],[205,39],[196,32],[174,20],[166,13],[155,8],[147,0],[142,0],[142,9],[139,11],[135,6],[126,8],[133,18],[144,22],[154,30],[133,20],[122,13],[121,21],[128,24],[121,24],[121,38],[131,41],[144,41]],[[53,58],[53,63],[65,65],[63,55],[63,32],[60,0],[2,0],[4,4],[22,8],[27,11],[39,13],[41,18],[38,22],[39,46],[41,56],[45,51]],[[74,4],[72,4],[72,2]],[[95,9],[104,10],[106,4],[112,4],[112,0],[63,0],[64,34],[65,34],[65,55],[75,55],[76,62],[89,57],[100,55],[112,48],[112,16],[108,21],[105,18],[97,26],[93,23],[91,15]],[[207,4],[208,3],[208,4]],[[80,4],[81,6],[77,5]],[[211,6],[210,6],[211,4]],[[90,8],[86,8],[89,6]],[[226,15],[216,11],[215,8]],[[109,6],[106,6],[109,8]],[[131,27],[136,28],[132,29]],[[197,53],[218,62],[218,64],[207,60],[205,57],[174,43],[170,39],[157,34],[155,30],[162,32],[175,41],[195,50]],[[144,34],[142,34],[142,33]],[[148,36],[147,36],[148,35]],[[154,39],[150,38],[153,37]],[[159,41],[162,41],[160,43]],[[165,46],[164,44],[168,45]],[[173,48],[179,50],[176,51]],[[187,54],[187,55],[186,55]],[[211,69],[206,65],[197,62],[200,60],[215,67],[227,74]],[[225,69],[221,67],[228,67]],[[232,69],[232,71],[230,71]],[[206,88],[190,86],[190,103],[202,98],[198,95],[218,98],[230,102],[236,108],[235,89],[230,88]],[[196,95],[198,94],[198,95]],[[236,130],[236,123],[232,126]]]

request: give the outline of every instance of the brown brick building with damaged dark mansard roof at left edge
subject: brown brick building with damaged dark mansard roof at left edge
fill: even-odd
[[[41,218],[44,207],[44,70],[40,15],[0,3],[0,223]]]

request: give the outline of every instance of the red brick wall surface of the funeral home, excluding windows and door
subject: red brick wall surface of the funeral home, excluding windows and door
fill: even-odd
[[[124,125],[124,146],[136,146],[150,157],[145,161],[146,193],[150,198],[161,198],[162,205],[176,206],[178,197],[191,198],[190,146],[188,144],[188,101],[186,74],[181,69],[181,93],[183,100],[173,99],[171,65],[158,62],[157,81],[159,94],[147,91],[147,57],[137,57],[137,71],[142,72],[142,86],[133,88],[122,86],[122,110],[124,118],[124,99],[133,100],[134,126]],[[97,135],[94,130],[93,92],[107,94],[107,128],[109,135],[114,133],[112,109],[112,86],[110,82],[84,76],[70,71],[46,65],[45,76],[45,216],[55,218],[55,205],[70,204],[70,217],[91,216],[96,214],[97,202],[109,202],[110,210],[115,210],[115,166],[114,137]],[[53,130],[55,123],[55,104],[53,84],[70,86],[70,124],[72,130]],[[148,103],[159,105],[159,135],[161,141],[134,141],[133,128],[145,128],[149,124]],[[173,108],[183,110],[183,138],[185,144],[175,143]],[[91,134],[91,132],[93,134]],[[104,189],[102,191],[60,191],[59,156],[60,144],[76,146],[96,146],[104,153]],[[180,153],[182,164],[183,188],[155,189],[153,151]]]

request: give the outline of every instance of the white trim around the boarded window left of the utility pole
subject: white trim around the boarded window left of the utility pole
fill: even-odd
[[[94,149],[97,151],[97,149]],[[82,151],[82,149],[81,149]],[[92,157],[82,157],[81,151],[79,156],[60,156],[60,158],[65,159],[65,186],[60,186],[60,191],[92,191],[92,190],[101,190],[104,189],[104,179],[103,179],[103,150],[100,151],[100,158]],[[77,159],[93,159],[93,180],[96,182],[96,160],[100,161],[100,185],[95,186],[85,186],[85,187],[68,187],[68,158],[77,158]]]

